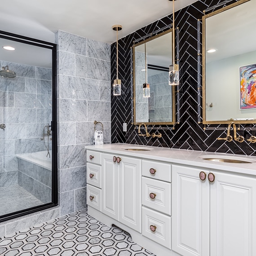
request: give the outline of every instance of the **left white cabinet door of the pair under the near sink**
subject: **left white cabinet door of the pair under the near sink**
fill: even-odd
[[[209,256],[209,181],[202,170],[172,165],[172,250],[182,256]]]

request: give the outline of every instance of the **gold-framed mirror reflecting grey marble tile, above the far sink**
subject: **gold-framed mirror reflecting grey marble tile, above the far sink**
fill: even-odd
[[[134,44],[132,56],[133,123],[175,124],[175,87],[169,85],[172,29]]]

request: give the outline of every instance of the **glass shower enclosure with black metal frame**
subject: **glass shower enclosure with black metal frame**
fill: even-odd
[[[0,31],[0,64],[5,221],[57,204],[56,45]]]

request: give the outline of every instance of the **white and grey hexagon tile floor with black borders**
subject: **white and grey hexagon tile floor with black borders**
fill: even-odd
[[[40,227],[39,227],[40,226]],[[87,209],[0,238],[0,256],[154,256]]]

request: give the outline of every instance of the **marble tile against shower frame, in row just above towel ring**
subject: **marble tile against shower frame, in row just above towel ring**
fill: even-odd
[[[87,102],[84,100],[59,99],[59,122],[87,121]]]

